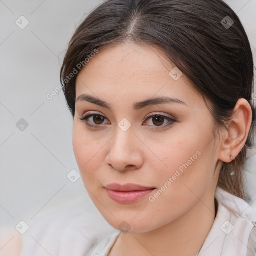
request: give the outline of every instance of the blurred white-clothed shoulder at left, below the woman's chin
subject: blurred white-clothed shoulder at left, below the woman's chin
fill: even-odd
[[[100,214],[79,206],[66,208],[31,228],[23,239],[21,256],[83,256],[113,230]]]

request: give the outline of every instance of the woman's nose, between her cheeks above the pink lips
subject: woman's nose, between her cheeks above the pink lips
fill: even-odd
[[[108,143],[106,165],[118,171],[139,169],[144,162],[140,144],[132,128],[123,131],[117,127],[115,136]]]

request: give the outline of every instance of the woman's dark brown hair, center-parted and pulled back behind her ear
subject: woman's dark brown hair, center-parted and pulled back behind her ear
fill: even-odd
[[[75,78],[86,66],[85,59],[105,45],[126,41],[159,46],[212,103],[216,123],[224,125],[230,119],[239,98],[249,102],[254,120],[250,44],[239,18],[222,0],[108,0],[99,5],[76,29],[61,67],[73,116]],[[218,185],[241,198],[245,198],[242,169],[252,134],[253,125],[239,155],[223,162],[219,174]]]

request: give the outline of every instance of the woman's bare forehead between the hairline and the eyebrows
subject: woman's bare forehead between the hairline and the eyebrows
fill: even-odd
[[[177,67],[158,47],[122,43],[108,45],[90,59],[76,79],[76,96],[85,92],[111,97],[156,94],[186,98],[198,97],[191,81],[182,74],[174,79]],[[178,73],[178,75],[180,75]]]

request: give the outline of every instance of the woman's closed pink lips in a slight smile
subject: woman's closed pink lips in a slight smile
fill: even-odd
[[[119,203],[132,203],[145,197],[155,189],[155,187],[146,187],[132,183],[124,185],[111,183],[106,185],[105,188],[109,197]]]

